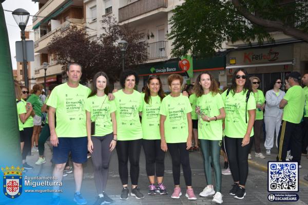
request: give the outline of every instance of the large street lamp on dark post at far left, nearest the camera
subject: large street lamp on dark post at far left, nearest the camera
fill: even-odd
[[[24,67],[24,78],[25,78],[25,86],[29,88],[29,80],[28,80],[28,69],[27,69],[27,54],[26,54],[26,36],[25,29],[28,24],[30,13],[25,9],[16,9],[12,12],[12,15],[15,19],[15,22],[22,30],[22,46],[23,46],[23,67]]]

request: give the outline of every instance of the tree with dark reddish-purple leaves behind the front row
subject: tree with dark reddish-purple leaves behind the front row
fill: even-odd
[[[104,71],[108,75],[111,84],[119,80],[122,60],[117,43],[120,39],[128,42],[125,55],[126,69],[136,69],[139,64],[145,63],[146,45],[140,42],[143,33],[119,26],[117,21],[109,15],[104,17],[101,23],[103,34],[98,39],[91,40],[85,28],[76,26],[51,39],[48,52],[56,54],[57,60],[63,65],[63,74],[68,63],[74,61],[83,68],[81,78],[83,84],[90,81],[99,71]]]

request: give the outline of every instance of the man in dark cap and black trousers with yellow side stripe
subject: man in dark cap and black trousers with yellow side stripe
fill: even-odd
[[[304,113],[305,95],[299,86],[301,75],[291,72],[286,76],[290,89],[280,101],[279,108],[283,108],[282,128],[278,136],[278,161],[285,161],[287,147],[291,140],[292,161],[297,161],[300,166],[301,155],[301,126],[300,121]]]

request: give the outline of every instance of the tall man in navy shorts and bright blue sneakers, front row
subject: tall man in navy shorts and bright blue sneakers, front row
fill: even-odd
[[[86,162],[88,151],[85,101],[90,89],[79,84],[81,75],[81,66],[70,63],[67,69],[67,83],[53,89],[47,105],[50,142],[53,146],[52,160],[55,163],[53,177],[57,177],[56,181],[61,186],[63,170],[71,153],[75,179],[74,201],[77,204],[86,204],[87,201],[80,194],[80,190],[83,179],[82,163]],[[54,189],[59,189],[59,186],[55,186]],[[59,201],[59,193],[54,193],[51,203],[58,204]]]

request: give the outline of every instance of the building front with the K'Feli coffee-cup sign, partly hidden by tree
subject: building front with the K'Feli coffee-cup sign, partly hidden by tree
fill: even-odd
[[[290,1],[281,1],[287,6]],[[292,3],[292,1],[291,1]],[[294,24],[308,21],[308,3],[302,0],[306,7],[306,19]],[[249,22],[247,22],[249,24]],[[284,81],[286,74],[298,71],[301,74],[308,73],[308,44],[281,31],[268,29],[269,34],[275,39],[275,43],[264,42],[258,45],[256,41],[249,46],[244,42],[228,42],[234,47],[226,56],[227,84],[231,84],[232,74],[237,68],[245,68],[249,75],[258,76],[261,79],[261,89],[266,91],[271,87],[271,81],[281,78]]]

